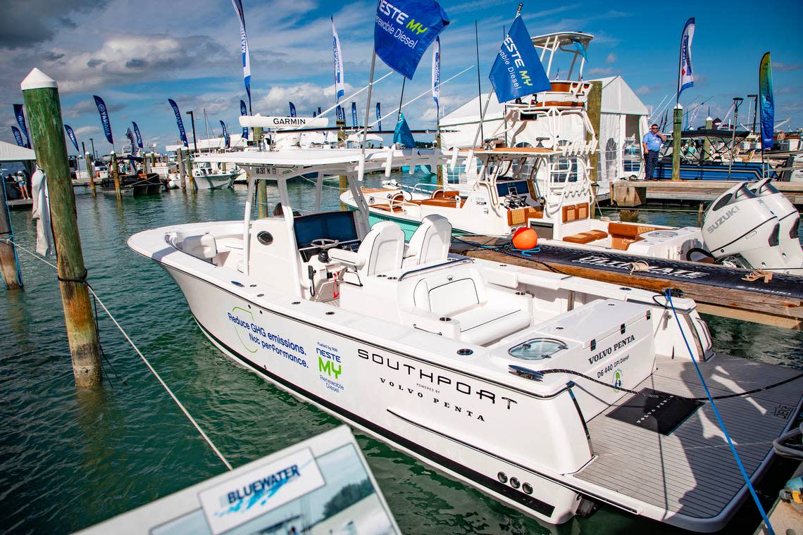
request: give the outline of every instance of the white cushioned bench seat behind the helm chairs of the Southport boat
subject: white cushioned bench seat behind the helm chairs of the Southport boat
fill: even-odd
[[[414,310],[442,318],[441,322],[459,331],[460,340],[479,345],[526,329],[532,321],[530,295],[487,288],[475,268],[421,278],[412,294]]]

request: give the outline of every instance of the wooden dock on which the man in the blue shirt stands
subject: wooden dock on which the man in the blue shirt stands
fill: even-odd
[[[649,201],[711,202],[740,181],[736,180],[616,180],[610,184],[612,205],[622,208]],[[772,181],[798,209],[803,207],[803,182]]]

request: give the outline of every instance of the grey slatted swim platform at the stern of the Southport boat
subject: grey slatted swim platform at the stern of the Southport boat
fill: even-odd
[[[750,391],[800,373],[728,355],[716,355],[701,368],[715,397]],[[645,387],[690,397],[705,395],[688,361],[659,361],[654,375],[634,390]],[[772,450],[772,440],[797,415],[801,392],[803,379],[797,379],[716,402],[751,477]],[[630,397],[626,395],[621,403]],[[736,505],[732,502],[744,483],[710,403],[704,403],[668,436],[609,417],[615,409],[589,421],[597,458],[575,477],[662,509],[667,518],[706,519]]]

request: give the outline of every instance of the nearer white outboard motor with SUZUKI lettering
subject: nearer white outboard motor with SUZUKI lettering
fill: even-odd
[[[737,184],[711,203],[703,215],[703,241],[717,261],[731,257],[748,269],[785,268],[778,232],[781,225],[746,182]]]

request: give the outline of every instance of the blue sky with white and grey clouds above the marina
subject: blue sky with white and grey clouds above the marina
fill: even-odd
[[[442,115],[490,87],[488,72],[503,39],[504,28],[518,2],[444,0],[450,25],[441,34],[441,79],[473,67],[441,87]],[[758,65],[772,52],[776,119],[791,120],[785,128],[803,127],[803,48],[799,34],[803,2],[525,2],[522,16],[532,36],[560,30],[593,34],[585,79],[622,75],[648,107],[674,95],[680,33],[695,17],[692,44],[695,86],[683,91],[687,109],[699,103],[696,123],[724,116],[732,98],[756,93]],[[372,0],[243,0],[251,48],[253,112],[289,115],[288,101],[300,116],[334,103],[332,26],[334,18],[344,56],[346,93],[369,79],[373,44]],[[0,0],[0,140],[14,142],[12,104],[22,103],[19,83],[38,67],[59,83],[63,120],[75,129],[79,143],[108,152],[92,95],[106,102],[118,148],[127,143],[126,128],[139,125],[146,145],[178,139],[167,99],[194,111],[198,138],[220,135],[220,120],[238,132],[239,100],[246,99],[240,55],[239,25],[230,0]],[[404,100],[430,88],[431,50],[426,51],[414,79],[406,83]],[[565,66],[563,67],[565,69]],[[389,71],[377,59],[378,79]],[[552,74],[554,74],[554,68]],[[565,72],[565,71],[564,71]],[[383,111],[397,107],[402,75],[393,73],[374,88],[372,101]],[[365,92],[355,99],[365,115]],[[349,100],[350,102],[350,100]],[[345,103],[351,124],[349,103]],[[748,106],[740,110],[745,120]],[[430,96],[404,108],[410,128],[434,128],[436,112]],[[373,106],[371,110],[373,118]],[[333,114],[329,115],[333,122]],[[383,121],[393,127],[395,116]],[[190,143],[191,143],[190,133]],[[70,143],[68,152],[75,153]]]

